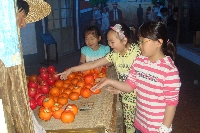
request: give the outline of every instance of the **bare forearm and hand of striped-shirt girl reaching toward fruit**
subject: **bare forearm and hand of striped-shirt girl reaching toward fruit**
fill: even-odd
[[[124,81],[118,81],[109,78],[101,78],[99,83],[91,88],[91,91],[98,90],[99,88],[102,88],[107,85],[112,86],[124,92],[132,92],[134,90],[128,83]]]

